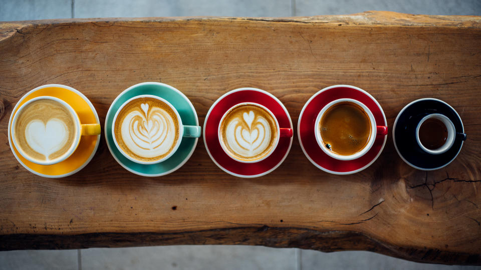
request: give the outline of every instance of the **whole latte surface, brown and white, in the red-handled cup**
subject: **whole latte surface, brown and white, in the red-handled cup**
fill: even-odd
[[[240,160],[263,158],[271,152],[278,136],[272,115],[253,104],[231,109],[220,124],[223,146],[232,157]]]

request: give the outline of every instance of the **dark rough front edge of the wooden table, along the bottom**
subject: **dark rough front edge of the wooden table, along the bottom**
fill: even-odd
[[[106,241],[107,240],[107,241]],[[107,243],[108,242],[108,243]],[[28,243],[27,247],[25,243]],[[98,232],[81,234],[0,235],[0,250],[77,249],[154,245],[240,244],[277,248],[302,248],[335,252],[363,250],[423,263],[478,265],[480,254],[432,248],[392,246],[368,235],[349,230],[316,230],[300,227],[239,226],[175,232]]]

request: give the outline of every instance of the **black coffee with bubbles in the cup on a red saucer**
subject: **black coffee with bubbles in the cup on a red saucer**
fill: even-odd
[[[340,102],[328,108],[319,128],[324,145],[340,155],[359,152],[371,136],[369,116],[353,102]]]

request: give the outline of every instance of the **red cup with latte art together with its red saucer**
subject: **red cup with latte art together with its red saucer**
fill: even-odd
[[[205,115],[203,139],[212,161],[242,178],[271,173],[286,159],[293,125],[272,93],[243,87],[222,94]]]

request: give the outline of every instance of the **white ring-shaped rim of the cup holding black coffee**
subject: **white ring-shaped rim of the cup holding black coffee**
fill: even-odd
[[[369,122],[371,124],[371,135],[369,137],[369,140],[368,140],[367,144],[360,151],[358,151],[356,153],[353,153],[353,154],[350,154],[350,155],[337,154],[337,153],[331,151],[330,149],[328,149],[326,147],[326,145],[324,145],[324,141],[322,139],[321,131],[320,131],[320,128],[319,128],[319,124],[320,124],[321,118],[324,116],[324,113],[330,107],[332,107],[335,104],[340,103],[340,102],[352,102],[352,103],[355,103],[356,105],[360,106],[366,112],[366,114],[368,115]],[[319,147],[321,147],[321,149],[327,155],[329,155],[333,158],[339,159],[339,160],[353,160],[353,159],[356,159],[356,158],[359,158],[359,157],[363,156],[365,153],[367,153],[369,151],[369,149],[371,149],[372,145],[374,144],[374,140],[376,139],[377,127],[376,127],[376,120],[374,119],[374,115],[372,114],[371,110],[366,105],[364,105],[362,102],[360,102],[356,99],[340,98],[340,99],[336,99],[334,101],[329,102],[328,104],[326,104],[321,109],[321,111],[319,111],[319,113],[316,117],[316,123],[314,125],[314,130],[315,130],[314,132],[316,134],[316,140],[317,140],[317,143],[319,144]]]

